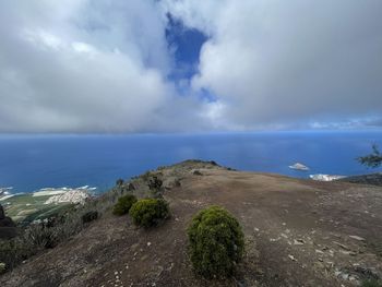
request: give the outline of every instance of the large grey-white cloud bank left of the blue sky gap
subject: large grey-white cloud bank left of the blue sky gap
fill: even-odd
[[[181,109],[199,104],[165,80],[155,2],[12,1],[0,19],[0,132],[168,131],[190,117],[198,129]]]

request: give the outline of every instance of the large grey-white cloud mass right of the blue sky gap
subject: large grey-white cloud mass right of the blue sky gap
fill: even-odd
[[[243,128],[382,112],[382,2],[167,0],[211,38],[193,87]]]

